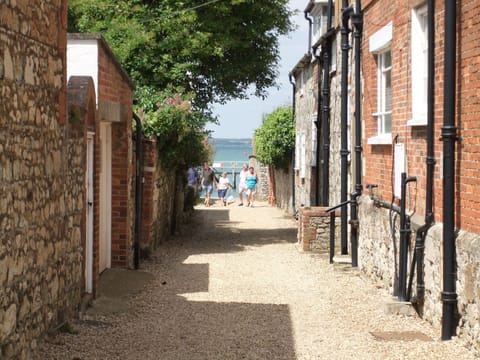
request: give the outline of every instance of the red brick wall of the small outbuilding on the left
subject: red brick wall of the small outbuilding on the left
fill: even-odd
[[[132,267],[134,241],[133,85],[99,40],[98,109],[112,122],[112,267]]]

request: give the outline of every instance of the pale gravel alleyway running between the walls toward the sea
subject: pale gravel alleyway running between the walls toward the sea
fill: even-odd
[[[385,314],[390,298],[358,270],[295,244],[294,220],[266,204],[199,206],[142,264],[143,289],[100,297],[37,358],[474,359],[421,319]]]

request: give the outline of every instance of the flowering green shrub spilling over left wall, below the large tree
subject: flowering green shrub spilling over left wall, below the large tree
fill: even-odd
[[[139,89],[136,111],[145,136],[157,139],[158,151],[167,167],[200,165],[212,157],[205,125],[211,119],[192,108],[193,96],[168,89],[154,93]],[[155,102],[154,102],[155,101]]]

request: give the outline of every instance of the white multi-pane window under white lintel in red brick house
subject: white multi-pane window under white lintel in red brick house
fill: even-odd
[[[377,136],[369,144],[390,144],[392,132],[392,53],[377,54]]]

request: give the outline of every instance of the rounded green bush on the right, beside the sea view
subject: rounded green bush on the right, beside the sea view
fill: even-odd
[[[264,119],[262,126],[255,130],[255,151],[257,159],[279,169],[287,169],[295,146],[295,127],[292,108],[279,107]]]

